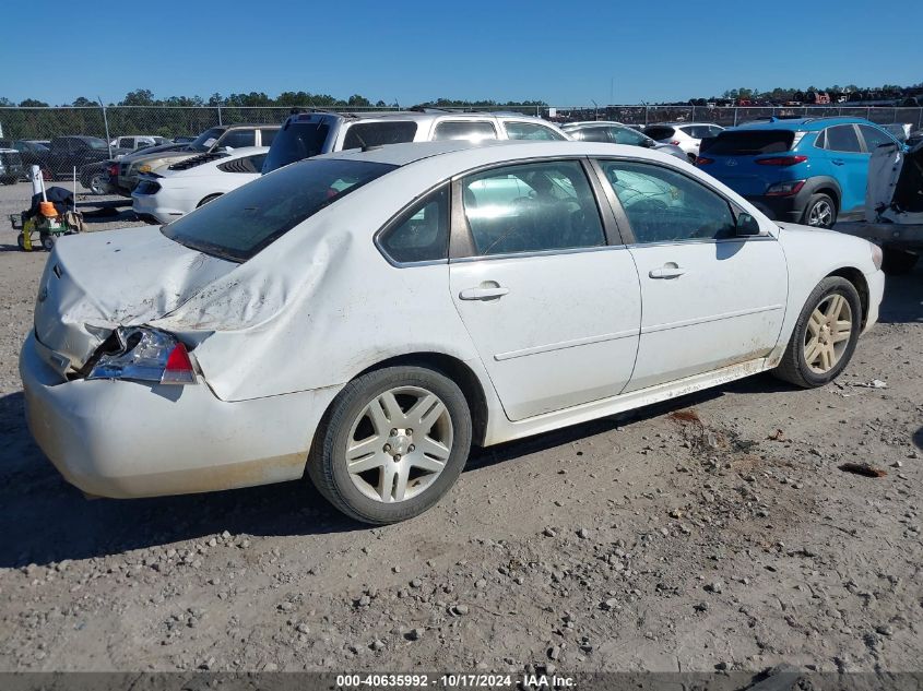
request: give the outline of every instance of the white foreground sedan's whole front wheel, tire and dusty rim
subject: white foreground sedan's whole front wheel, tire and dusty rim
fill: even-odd
[[[862,302],[849,281],[828,276],[814,288],[773,374],[814,389],[843,371],[862,330]]]

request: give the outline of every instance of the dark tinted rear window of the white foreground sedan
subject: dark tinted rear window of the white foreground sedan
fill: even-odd
[[[305,160],[228,192],[161,233],[206,254],[245,262],[321,209],[394,168],[364,160]]]

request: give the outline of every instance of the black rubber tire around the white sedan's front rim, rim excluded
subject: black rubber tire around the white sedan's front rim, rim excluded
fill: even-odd
[[[852,332],[849,341],[843,348],[840,359],[828,371],[818,373],[808,367],[805,360],[805,339],[808,333],[808,321],[814,310],[831,295],[841,295],[849,302],[852,312]],[[786,382],[802,386],[804,389],[815,389],[830,383],[837,376],[843,371],[849,365],[853,353],[855,352],[855,344],[859,341],[859,334],[862,331],[862,301],[859,297],[859,291],[849,281],[839,276],[828,276],[817,284],[817,287],[810,293],[807,301],[802,308],[798,320],[795,322],[795,329],[792,332],[792,337],[785,348],[785,354],[782,360],[772,370],[772,373]]]

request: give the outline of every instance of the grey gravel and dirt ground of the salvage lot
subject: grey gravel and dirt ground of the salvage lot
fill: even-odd
[[[64,484],[16,373],[45,257],[0,218],[0,669],[920,669],[920,269],[836,385],[757,377],[475,450],[439,507],[369,529],[307,482]]]

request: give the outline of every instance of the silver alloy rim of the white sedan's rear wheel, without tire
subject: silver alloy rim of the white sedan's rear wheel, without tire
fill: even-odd
[[[446,404],[419,386],[389,389],[363,408],[346,438],[346,469],[366,497],[383,503],[425,491],[452,450]]]

